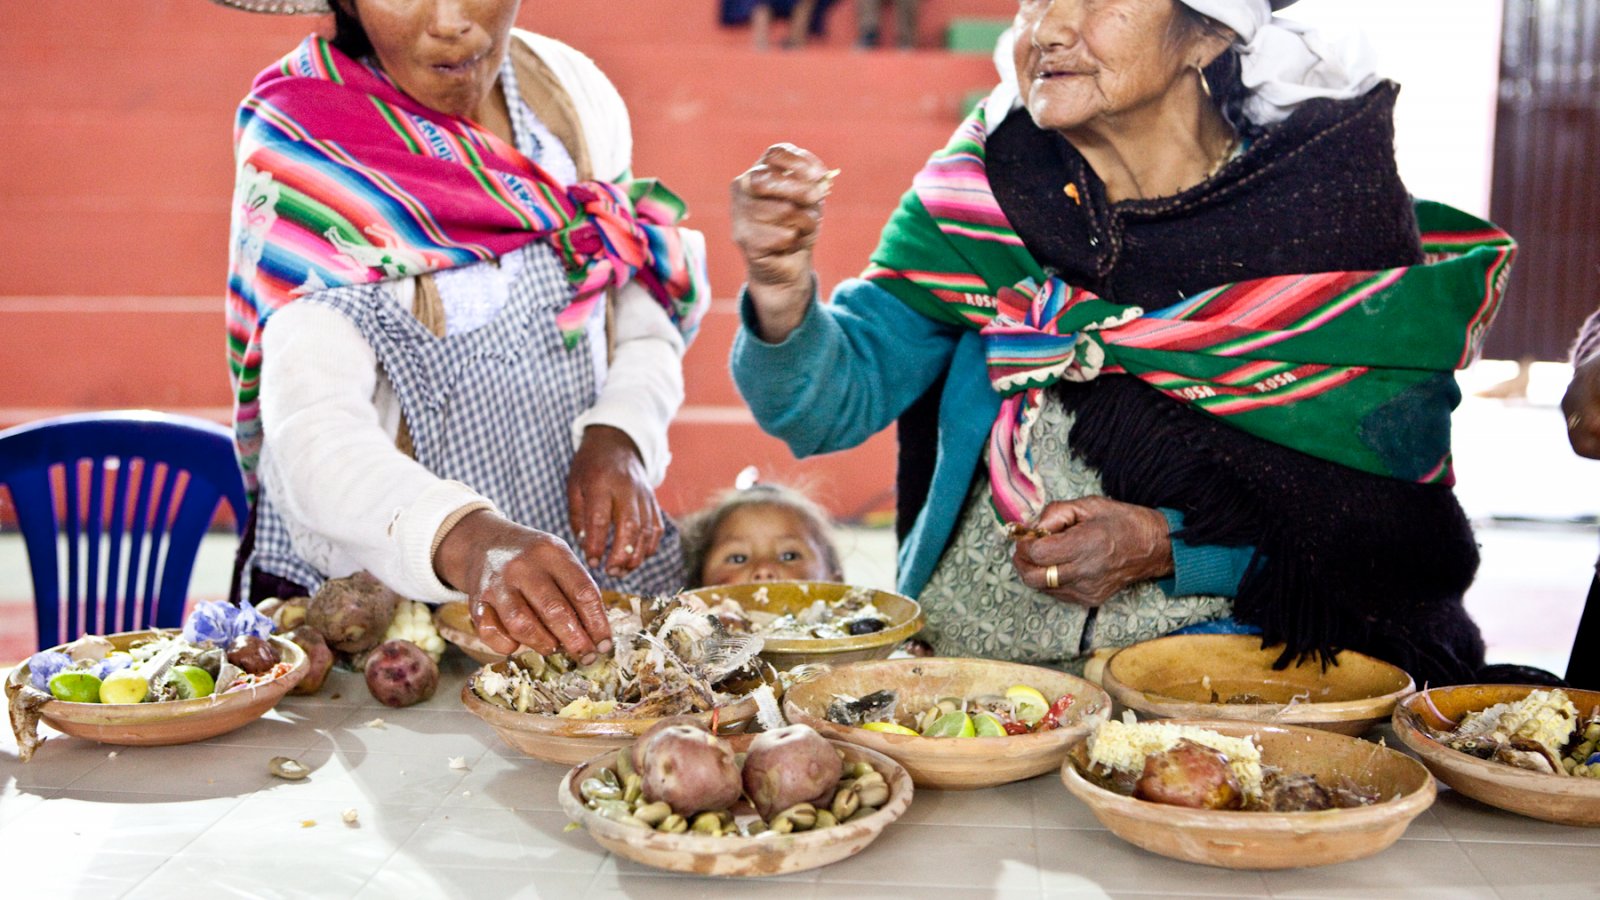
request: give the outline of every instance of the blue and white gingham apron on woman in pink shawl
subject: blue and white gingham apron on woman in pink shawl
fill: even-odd
[[[459,335],[434,336],[381,285],[333,288],[299,303],[336,309],[371,344],[411,428],[418,463],[470,485],[512,520],[578,546],[566,514],[566,474],[573,420],[597,396],[595,356],[587,336],[571,349],[562,344],[555,312],[566,306],[571,287],[555,253],[542,243],[517,253],[525,256],[510,299],[486,325]],[[310,591],[323,581],[294,552],[266,488],[253,562]],[[637,572],[590,575],[602,588],[626,593],[680,589],[677,527],[666,524],[661,548]]]

